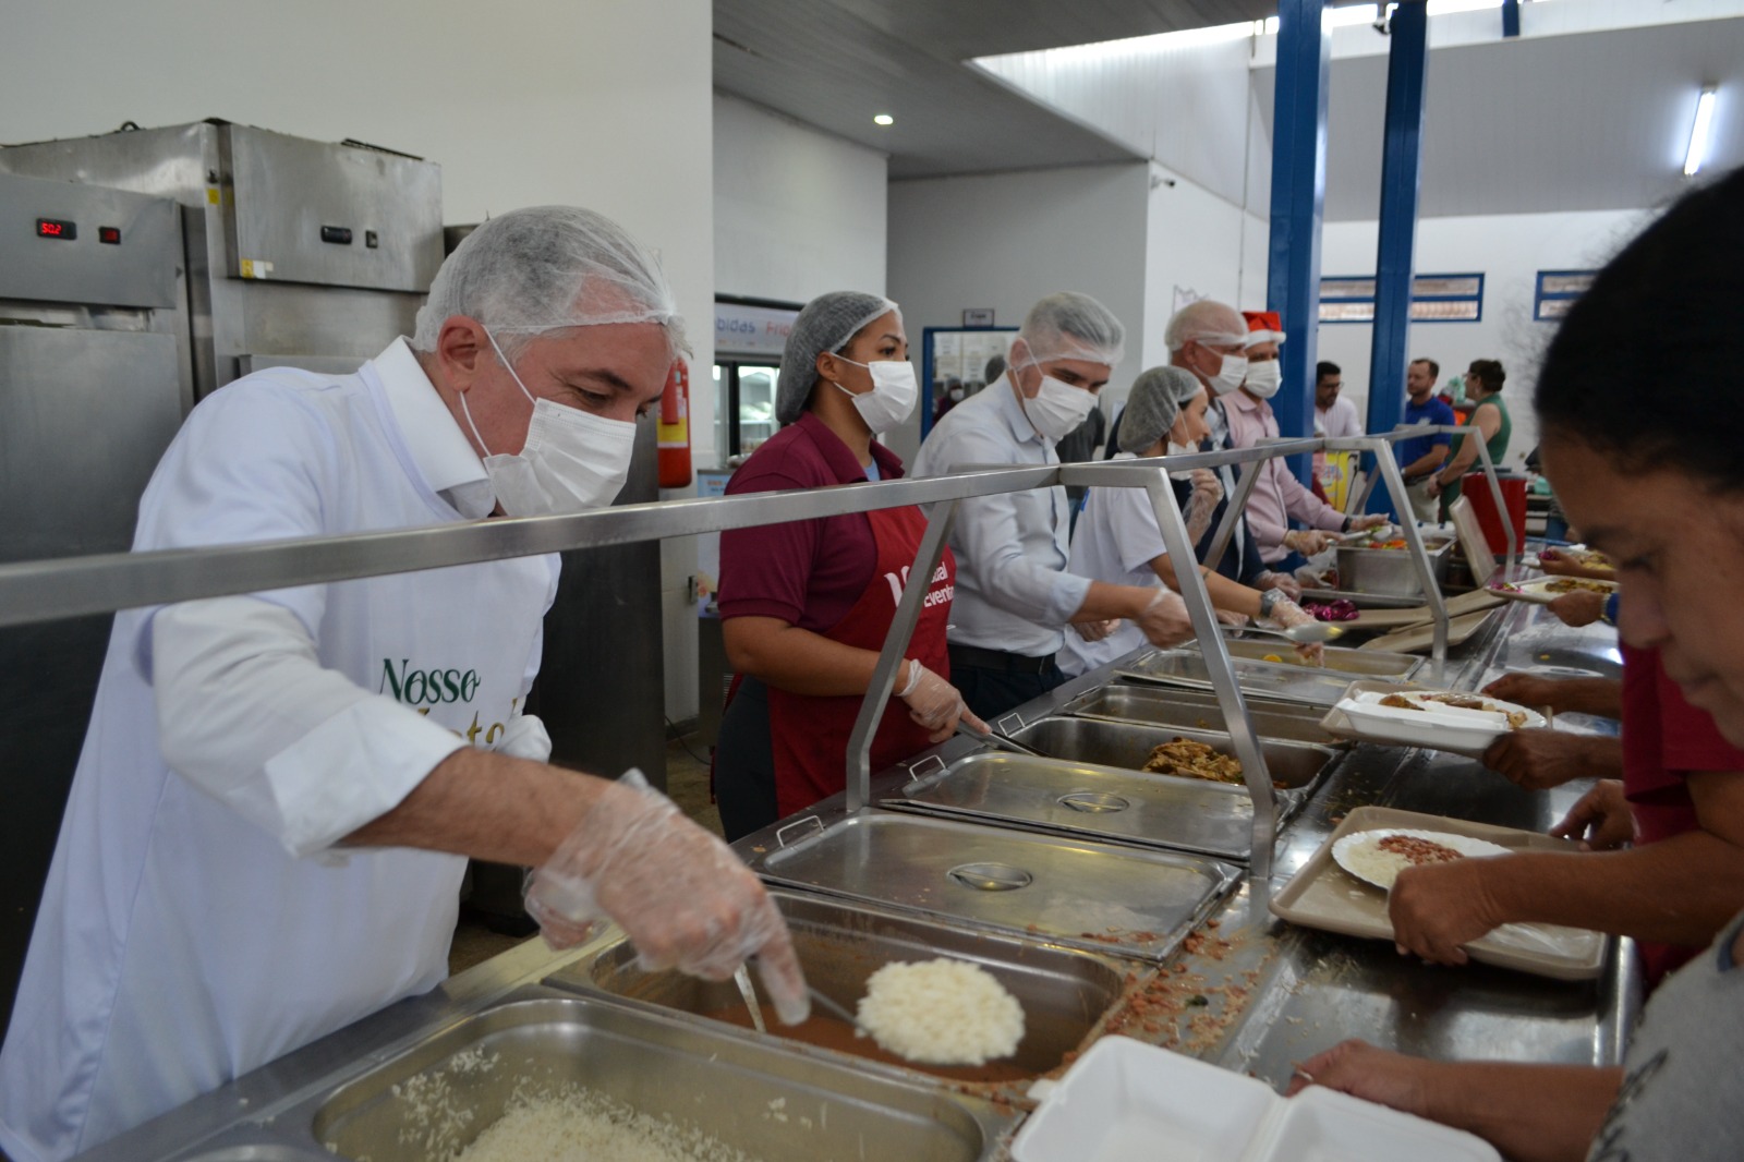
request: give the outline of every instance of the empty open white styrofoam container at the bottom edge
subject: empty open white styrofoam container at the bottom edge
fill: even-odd
[[[1489,1143],[1311,1085],[1264,1082],[1104,1036],[1012,1143],[1017,1162],[1500,1162]]]

